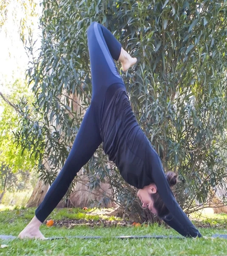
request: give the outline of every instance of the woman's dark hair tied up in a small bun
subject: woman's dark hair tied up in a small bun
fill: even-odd
[[[167,180],[169,181],[170,187],[176,185],[177,183],[177,174],[175,172],[167,172],[166,173]],[[151,198],[154,202],[154,208],[158,212],[158,216],[160,218],[169,214],[168,208],[163,203],[162,199],[159,196],[159,193],[151,194]]]

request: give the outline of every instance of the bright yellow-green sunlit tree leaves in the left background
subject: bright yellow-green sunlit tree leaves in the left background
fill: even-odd
[[[31,92],[24,81],[16,80],[11,86],[6,86],[11,89],[7,98],[15,105],[20,104],[21,98],[32,101]],[[12,172],[17,172],[18,169],[32,169],[35,164],[34,157],[30,158],[27,149],[24,151],[14,143],[14,133],[20,130],[22,125],[19,124],[21,116],[6,102],[1,101],[0,105],[4,108],[0,116],[0,161],[8,165]],[[31,110],[30,106],[28,108]]]

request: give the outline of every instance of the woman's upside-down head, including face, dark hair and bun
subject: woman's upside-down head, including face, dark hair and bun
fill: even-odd
[[[170,187],[176,185],[177,175],[175,172],[167,172],[166,177]],[[148,208],[153,214],[164,217],[169,213],[169,210],[159,196],[155,183],[151,183],[143,189],[139,189],[137,196],[142,202],[142,207]]]

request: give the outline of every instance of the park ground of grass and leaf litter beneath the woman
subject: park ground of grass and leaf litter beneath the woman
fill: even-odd
[[[5,207],[0,205],[0,234],[17,236],[34,216],[35,208]],[[99,212],[99,214],[98,214]],[[129,235],[178,234],[158,224],[142,224],[100,215],[94,209],[55,209],[48,220],[54,225],[40,227],[45,237],[103,236],[103,239],[0,239],[0,255],[227,255],[227,239],[114,239]],[[194,224],[203,236],[227,234],[227,215],[206,215],[194,218]]]

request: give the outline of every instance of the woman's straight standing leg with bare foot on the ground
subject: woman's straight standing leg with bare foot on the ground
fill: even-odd
[[[88,162],[101,142],[96,122],[96,105],[91,103],[63,168],[36,209],[34,218],[20,233],[20,238],[43,238],[40,225],[61,201],[77,172]]]

